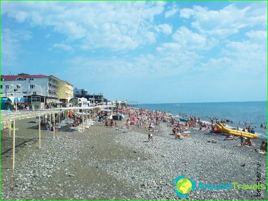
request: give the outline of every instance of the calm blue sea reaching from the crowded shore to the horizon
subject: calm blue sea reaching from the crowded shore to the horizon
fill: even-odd
[[[240,128],[245,127],[242,123],[245,121],[246,126],[254,127],[256,133],[262,137],[267,136],[267,130],[261,128],[261,123],[267,126],[267,102],[224,102],[224,103],[165,103],[165,104],[139,104],[139,108],[170,111],[173,116],[179,115],[179,112],[186,113],[196,117],[202,117],[203,121],[210,121],[210,117],[232,120],[233,123],[227,125]],[[240,124],[238,122],[240,121]],[[256,126],[256,128],[255,128]]]

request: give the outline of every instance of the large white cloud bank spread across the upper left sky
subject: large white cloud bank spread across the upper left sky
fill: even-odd
[[[66,35],[66,41],[81,39],[77,44],[84,49],[118,51],[155,42],[153,21],[164,5],[164,1],[5,1],[1,15],[52,27]]]

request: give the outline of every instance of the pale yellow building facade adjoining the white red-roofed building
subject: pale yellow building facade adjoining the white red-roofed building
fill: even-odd
[[[67,105],[69,100],[74,97],[73,85],[68,81],[60,80],[58,82],[59,101]]]

